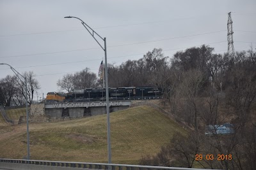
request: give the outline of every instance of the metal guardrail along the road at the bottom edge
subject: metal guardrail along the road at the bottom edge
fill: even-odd
[[[172,169],[172,170],[202,170],[186,167],[163,167],[163,166],[137,166],[127,164],[103,164],[103,163],[89,163],[89,162],[60,162],[60,161],[47,161],[47,160],[24,160],[24,159],[0,159],[1,162],[12,164],[29,164],[39,166],[51,167],[73,167],[74,169],[109,169],[109,170],[153,170],[153,169]],[[209,170],[209,169],[208,169]]]

